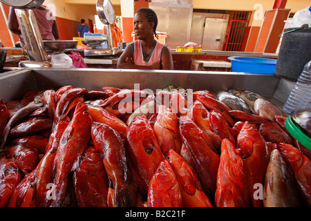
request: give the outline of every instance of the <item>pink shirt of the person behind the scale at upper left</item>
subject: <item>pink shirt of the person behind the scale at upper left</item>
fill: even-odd
[[[35,17],[37,19],[38,28],[41,33],[42,40],[55,40],[55,37],[52,33],[53,23],[55,17],[51,10],[43,10],[39,8],[32,9]]]

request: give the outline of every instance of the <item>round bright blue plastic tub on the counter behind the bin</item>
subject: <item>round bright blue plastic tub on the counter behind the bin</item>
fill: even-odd
[[[262,57],[228,57],[233,72],[272,74],[276,67],[276,59]]]

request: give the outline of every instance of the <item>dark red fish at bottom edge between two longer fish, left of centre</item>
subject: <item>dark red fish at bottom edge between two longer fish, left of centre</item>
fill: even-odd
[[[80,207],[107,207],[108,180],[100,153],[93,146],[84,151],[73,174],[75,195]]]

